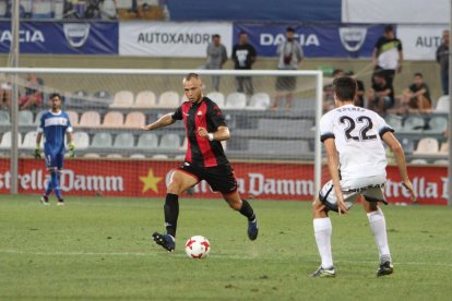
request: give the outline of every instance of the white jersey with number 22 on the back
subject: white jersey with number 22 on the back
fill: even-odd
[[[334,139],[342,179],[386,174],[381,136],[394,130],[374,111],[353,105],[325,113],[320,120],[321,141]]]

